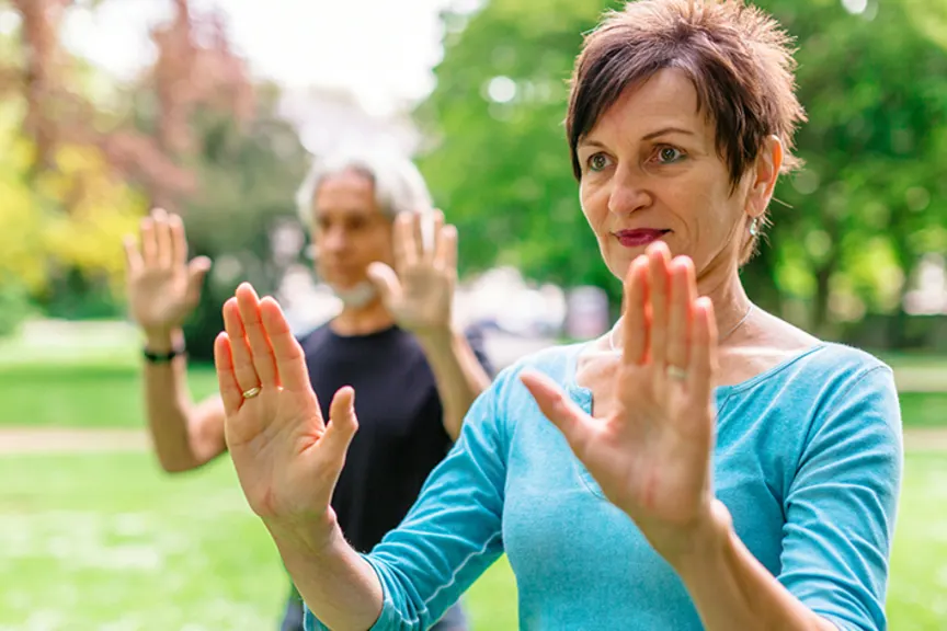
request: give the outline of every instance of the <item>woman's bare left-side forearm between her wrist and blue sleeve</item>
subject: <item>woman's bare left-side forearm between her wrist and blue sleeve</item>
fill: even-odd
[[[334,520],[324,537],[319,527],[264,523],[299,595],[323,626],[365,631],[375,623],[381,613],[381,583]]]

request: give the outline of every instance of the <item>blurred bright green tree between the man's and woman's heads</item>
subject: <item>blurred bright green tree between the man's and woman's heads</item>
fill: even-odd
[[[510,264],[620,290],[579,208],[562,127],[581,33],[618,5],[493,0],[474,16],[445,15],[437,87],[417,113],[435,148],[419,162],[458,226],[461,272]]]

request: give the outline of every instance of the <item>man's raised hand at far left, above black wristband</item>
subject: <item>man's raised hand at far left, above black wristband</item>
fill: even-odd
[[[140,250],[125,238],[126,282],[132,318],[147,333],[164,334],[181,326],[201,298],[210,260],[187,262],[184,225],[160,208],[141,219]]]

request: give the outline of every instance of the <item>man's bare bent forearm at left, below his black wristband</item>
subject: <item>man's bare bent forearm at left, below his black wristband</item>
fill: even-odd
[[[181,330],[146,334],[146,345],[153,353],[167,353],[183,342]],[[219,448],[202,444],[195,432],[198,420],[187,388],[187,362],[174,357],[169,363],[145,364],[145,410],[148,431],[161,467],[169,472],[187,471],[204,464]],[[214,452],[214,451],[217,452]]]

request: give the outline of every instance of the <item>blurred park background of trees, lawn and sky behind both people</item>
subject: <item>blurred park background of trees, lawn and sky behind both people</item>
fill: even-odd
[[[745,268],[761,307],[895,370],[894,631],[947,629],[947,0],[760,0],[798,41],[806,169]],[[566,79],[605,0],[0,0],[0,630],[274,629],[286,576],[226,458],[142,433],[121,239],[155,205],[214,261],[195,398],[251,280],[300,331],[338,303],[294,193],[342,144],[409,151],[460,233],[458,317],[503,366],[607,328]],[[466,599],[516,628],[504,560]]]

